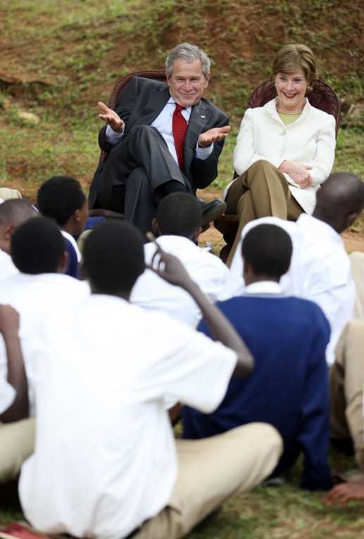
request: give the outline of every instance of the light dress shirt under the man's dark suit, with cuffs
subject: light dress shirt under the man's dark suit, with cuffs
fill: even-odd
[[[172,158],[178,165],[177,153],[175,149],[175,139],[173,139],[172,133],[172,117],[173,113],[175,112],[175,108],[176,102],[172,97],[170,97],[170,99],[168,99],[167,103],[165,103],[165,106],[161,110],[161,113],[159,113],[157,118],[151,123],[151,127],[156,127],[156,129],[158,129],[158,131],[161,133],[163,139],[165,139],[165,143],[168,146],[168,150],[170,151]],[[189,122],[191,112],[192,107],[183,108],[181,110],[181,114],[187,123]],[[124,131],[121,133],[117,133],[110,127],[110,125],[106,127],[106,140],[108,141],[108,144],[111,144],[111,146],[116,144],[120,140],[120,138],[123,137],[123,134]],[[213,144],[211,144],[210,146],[206,146],[206,148],[199,148],[199,145],[197,144],[195,151],[197,159],[206,160],[213,151]]]

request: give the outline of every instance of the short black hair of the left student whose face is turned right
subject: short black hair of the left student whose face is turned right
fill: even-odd
[[[38,190],[37,207],[44,217],[54,219],[60,227],[80,210],[86,201],[80,182],[68,176],[47,179]]]

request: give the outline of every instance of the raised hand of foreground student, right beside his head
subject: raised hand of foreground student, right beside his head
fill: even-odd
[[[149,236],[149,234],[147,234],[147,236],[149,239],[152,239],[152,236]],[[189,288],[193,281],[184,269],[182,262],[180,262],[176,256],[165,253],[161,246],[158,245],[157,241],[153,241],[156,246],[156,252],[151,259],[151,264],[146,265],[146,267],[170,284],[182,286],[182,288]]]

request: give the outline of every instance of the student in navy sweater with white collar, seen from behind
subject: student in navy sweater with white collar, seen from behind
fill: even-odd
[[[218,307],[253,354],[255,369],[245,380],[232,379],[213,414],[184,407],[183,437],[206,438],[251,421],[270,423],[284,441],[274,476],[287,471],[303,452],[301,487],[327,489],[331,477],[325,348],[330,326],[315,303],[282,295],[278,283],[289,268],[291,252],[291,240],[281,227],[261,224],[244,237],[245,293]],[[205,320],[199,329],[211,336]]]

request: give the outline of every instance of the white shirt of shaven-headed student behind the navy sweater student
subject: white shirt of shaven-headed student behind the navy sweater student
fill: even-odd
[[[344,242],[329,224],[301,214],[294,222],[278,217],[262,217],[246,224],[241,237],[258,224],[277,224],[291,237],[293,254],[291,266],[280,284],[287,296],[298,296],[314,301],[321,307],[331,326],[330,343],[327,345],[326,359],[334,362],[334,348],[341,331],[353,315],[355,286],[351,277],[350,259]],[[232,265],[234,288],[237,293],[244,291],[243,261],[241,242],[235,251]]]

